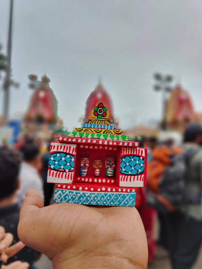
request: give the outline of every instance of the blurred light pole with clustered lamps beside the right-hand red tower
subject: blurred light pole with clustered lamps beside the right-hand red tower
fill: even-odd
[[[162,76],[160,73],[154,74],[154,79],[156,80],[156,84],[154,85],[154,90],[156,91],[162,91],[162,103],[163,103],[163,108],[162,108],[162,122],[161,122],[161,128],[162,130],[167,129],[167,122],[166,122],[166,105],[167,105],[167,98],[166,98],[166,93],[170,92],[172,89],[169,86],[170,83],[172,82],[172,76],[167,75],[167,76]]]

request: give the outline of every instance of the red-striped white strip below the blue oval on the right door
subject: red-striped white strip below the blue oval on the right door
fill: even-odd
[[[120,187],[144,187],[144,174],[140,175],[120,175]]]

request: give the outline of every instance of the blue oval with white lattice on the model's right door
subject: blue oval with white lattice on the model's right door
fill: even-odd
[[[144,173],[144,163],[145,159],[136,156],[128,155],[123,156],[120,159],[120,174],[125,175],[138,175]]]

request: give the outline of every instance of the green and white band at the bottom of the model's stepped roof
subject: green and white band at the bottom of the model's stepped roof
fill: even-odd
[[[129,141],[128,135],[112,135],[112,134],[97,134],[97,133],[84,133],[84,132],[68,132],[68,137],[83,137],[83,138],[97,138],[108,139],[117,141]]]

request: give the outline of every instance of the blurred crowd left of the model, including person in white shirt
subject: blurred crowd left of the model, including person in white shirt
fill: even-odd
[[[14,244],[19,241],[17,236],[19,211],[27,190],[36,190],[43,198],[44,205],[50,205],[54,184],[47,183],[49,150],[50,141],[45,141],[41,136],[30,133],[20,135],[13,145],[8,145],[5,139],[1,142],[0,228],[6,231],[6,235],[13,235]],[[2,236],[0,240],[1,252],[1,246],[3,247],[4,241],[7,239],[3,239]],[[27,246],[23,247],[12,257],[8,256],[8,265],[6,266],[6,263],[3,268],[19,267],[19,269],[23,269],[28,268],[26,267],[28,263],[29,268],[35,269],[34,262],[39,258],[39,254]],[[7,258],[5,256],[3,259],[0,256],[0,260],[4,262],[7,261]],[[20,261],[20,263],[18,264],[16,261]]]

